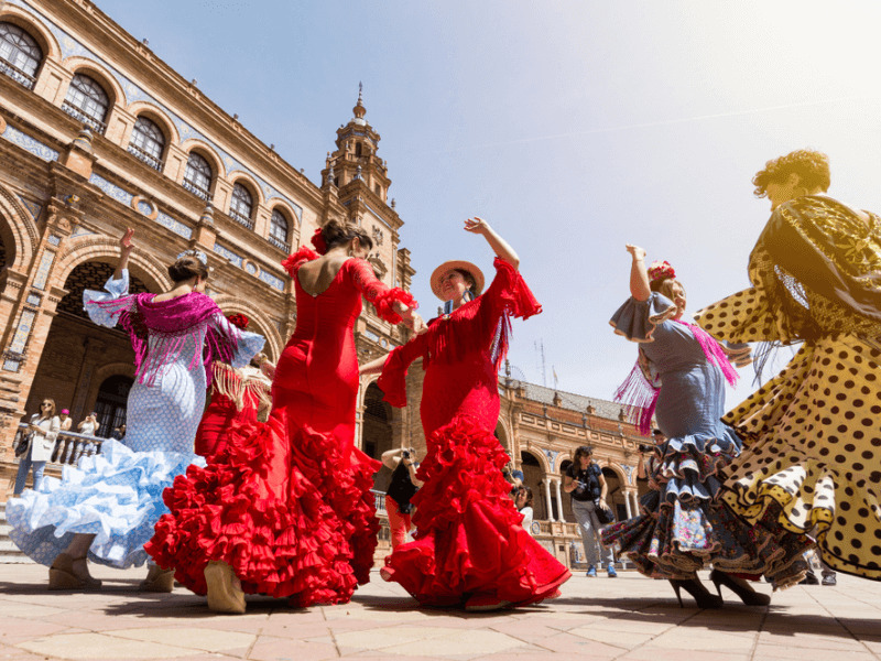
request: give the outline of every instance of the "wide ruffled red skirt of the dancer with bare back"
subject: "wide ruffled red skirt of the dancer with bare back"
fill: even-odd
[[[221,561],[246,593],[301,607],[348,602],[373,565],[379,462],[355,448],[342,457],[335,438],[291,430],[284,409],[227,435],[221,460],[191,466],[165,490],[171,513],[146,552],[199,595],[205,566]]]

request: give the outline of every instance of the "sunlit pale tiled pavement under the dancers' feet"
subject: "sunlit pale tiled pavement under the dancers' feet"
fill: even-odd
[[[345,606],[255,597],[217,616],[183,588],[139,594],[143,570],[94,573],[102,592],[48,593],[45,567],[0,565],[0,659],[881,660],[881,583],[840,575],[762,608],[724,592],[720,610],[681,609],[666,583],[632,573],[576,576],[547,605],[474,615],[421,610],[374,574]]]

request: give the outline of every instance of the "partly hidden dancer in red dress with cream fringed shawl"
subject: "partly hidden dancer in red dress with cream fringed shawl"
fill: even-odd
[[[228,314],[227,321],[246,330],[250,319],[243,314]],[[265,421],[272,408],[272,378],[275,366],[267,355],[258,354],[251,365],[236,368],[229,362],[211,364],[211,398],[196,430],[197,455],[209,463],[219,460],[226,451],[227,430],[237,422]]]

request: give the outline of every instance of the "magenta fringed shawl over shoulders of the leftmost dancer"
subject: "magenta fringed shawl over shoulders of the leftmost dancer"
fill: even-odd
[[[224,314],[217,303],[199,292],[161,303],[154,303],[154,297],[155,294],[132,294],[112,301],[88,302],[117,318],[128,332],[134,349],[135,376],[139,382],[148,386],[152,386],[164,368],[180,358],[187,338],[192,337],[194,344],[197,343],[199,333],[211,316],[219,314],[222,317]],[[232,360],[241,337],[241,333],[231,324],[225,324],[224,330],[221,333],[208,326],[204,350],[195,351],[188,366],[188,369],[193,369],[202,355],[209,386],[211,370],[208,367],[211,361]],[[148,361],[151,337],[154,356]]]

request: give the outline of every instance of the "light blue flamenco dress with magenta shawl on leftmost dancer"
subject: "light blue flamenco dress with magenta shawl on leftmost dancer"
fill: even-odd
[[[84,292],[86,312],[109,328],[126,322],[139,350],[126,438],[106,440],[100,454],[64,466],[61,480],[46,478],[40,490],[29,489],[7,505],[10,538],[44,565],[52,565],[76,533],[96,535],[88,555],[93,562],[127,568],[148,560],[143,545],[168,512],[163,490],[191,464],[204,465],[193,446],[207,389],[206,339],[207,353],[225,354],[233,367],[246,366],[265,342],[232,326],[205,294],[152,303],[152,294],[128,295],[128,271],[105,289],[108,293]],[[166,308],[171,321],[162,329],[151,327],[150,319],[162,318]],[[177,318],[183,324],[175,328]],[[140,347],[134,332],[143,339]]]

